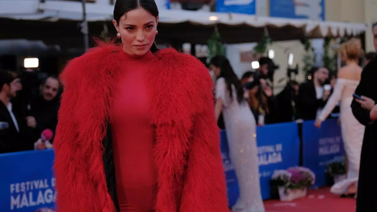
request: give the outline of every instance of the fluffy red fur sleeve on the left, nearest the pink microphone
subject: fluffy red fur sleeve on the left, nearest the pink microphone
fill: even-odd
[[[80,138],[80,110],[82,80],[87,55],[70,61],[61,74],[64,92],[58,113],[58,125],[54,140],[54,171],[57,191],[57,212],[113,212],[114,206],[107,193],[103,178],[103,167],[100,159],[100,148],[82,142]],[[90,57],[90,55],[89,55]],[[88,62],[89,61],[89,62]],[[89,67],[89,66],[88,66]],[[87,92],[87,91],[85,91]],[[88,135],[94,136],[94,135]],[[86,140],[89,140],[87,138]],[[100,177],[98,177],[100,176]]]

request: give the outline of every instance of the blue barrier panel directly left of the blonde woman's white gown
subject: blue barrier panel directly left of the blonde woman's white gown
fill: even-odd
[[[314,187],[325,186],[326,165],[344,157],[342,135],[336,119],[323,121],[321,128],[314,121],[302,123],[302,163],[316,174]]]

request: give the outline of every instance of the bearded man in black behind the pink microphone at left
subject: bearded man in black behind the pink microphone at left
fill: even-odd
[[[33,139],[37,141],[41,132],[50,129],[55,133],[59,110],[59,81],[50,76],[40,86],[39,97],[31,104],[29,116],[26,117],[28,127],[32,129]],[[50,141],[51,142],[51,141]],[[44,147],[38,147],[38,149]]]

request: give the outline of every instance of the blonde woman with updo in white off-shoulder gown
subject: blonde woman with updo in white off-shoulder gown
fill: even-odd
[[[342,44],[338,52],[342,62],[346,65],[338,71],[336,85],[326,106],[317,117],[315,125],[320,127],[328,115],[340,101],[340,126],[346,157],[348,159],[347,178],[331,187],[334,194],[356,194],[357,180],[359,179],[360,155],[363,143],[365,126],[360,124],[352,114],[351,102],[357,85],[361,78],[362,68],[358,65],[361,53],[359,39],[353,38]]]

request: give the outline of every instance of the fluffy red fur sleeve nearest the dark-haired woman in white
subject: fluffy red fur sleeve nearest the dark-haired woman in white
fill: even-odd
[[[196,61],[200,63],[199,61]],[[187,173],[179,212],[229,212],[219,128],[213,108],[212,78],[202,64],[196,78],[202,104],[193,117]]]

